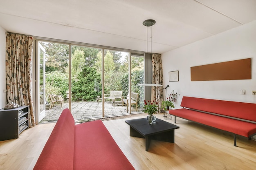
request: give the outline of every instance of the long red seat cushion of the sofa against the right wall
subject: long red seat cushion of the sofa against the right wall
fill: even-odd
[[[171,115],[205,124],[214,128],[249,137],[256,133],[256,124],[226,117],[211,115],[189,109],[169,110]]]

